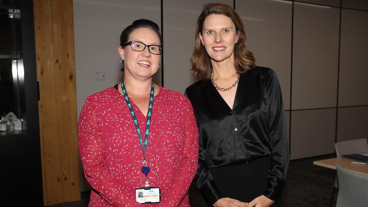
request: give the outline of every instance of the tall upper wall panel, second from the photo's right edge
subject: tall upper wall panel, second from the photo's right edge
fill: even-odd
[[[340,9],[294,3],[292,109],[336,106]]]

